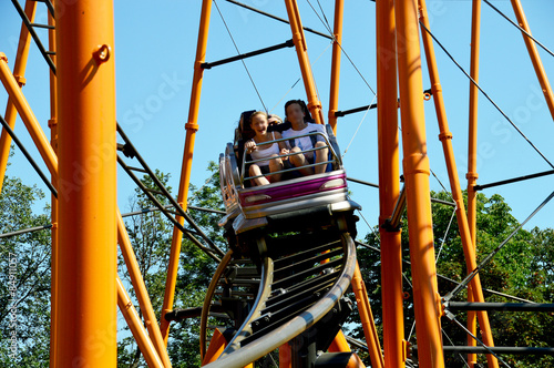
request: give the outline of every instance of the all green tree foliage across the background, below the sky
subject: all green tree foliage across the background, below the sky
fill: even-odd
[[[191,187],[188,205],[223,209],[219,194],[218,173],[214,163],[208,166],[211,175],[201,188]],[[167,185],[170,175],[157,172],[160,180]],[[145,178],[147,186],[152,183]],[[168,188],[171,191],[171,187]],[[433,193],[433,197],[450,201],[448,193]],[[37,203],[44,194],[37,187],[25,186],[18,178],[7,177],[0,196],[0,233],[6,234],[22,228],[41,226],[50,223],[48,208],[43,214],[34,214]],[[162,204],[168,204],[158,197]],[[146,196],[136,190],[130,200],[131,209],[152,207]],[[188,211],[195,222],[222,249],[226,245],[217,221],[219,215],[196,209]],[[462,243],[453,217],[453,208],[433,203],[434,249],[438,257],[437,269],[452,280],[439,278],[439,292],[445,295],[461,282],[465,274]],[[160,212],[148,212],[138,216],[126,217],[126,228],[133,244],[138,267],[145,280],[153,309],[160,320],[166,283],[166,269],[170,259],[173,224]],[[478,196],[478,263],[495,249],[516,227],[519,222],[511,214],[511,208],[500,195]],[[406,218],[404,218],[404,229]],[[379,234],[367,234],[365,243],[358,249],[358,259],[371,301],[378,333],[382,339],[381,310],[381,264],[379,255]],[[50,232],[34,232],[13,237],[0,238],[0,366],[2,367],[47,367],[49,362],[50,338]],[[371,248],[372,247],[372,248]],[[377,251],[376,251],[377,249]],[[402,252],[404,259],[404,290],[411,295],[411,269],[409,266],[409,239],[402,232]],[[17,359],[10,357],[10,257],[17,256]],[[175,308],[197,307],[203,304],[205,290],[217,265],[186,237],[183,238],[182,255],[175,292]],[[124,262],[119,259],[119,274],[134,300],[135,293],[131,285]],[[554,299],[554,229],[521,229],[492,258],[480,273],[482,285],[486,289],[515,296],[535,303],[552,303]],[[486,301],[513,301],[501,294],[485,290]],[[456,296],[465,300],[466,292]],[[489,313],[496,346],[554,346],[550,326],[554,324],[552,313]],[[465,324],[465,315],[456,313],[456,319]],[[119,366],[145,367],[145,361],[134,338],[120,319]],[[359,317],[352,314],[350,335],[363,338]],[[417,344],[413,329],[413,301],[411,296],[404,300],[404,336]],[[172,323],[167,350],[174,367],[199,366],[198,320],[187,319]],[[442,319],[443,341],[445,345],[465,345],[465,333],[448,319]],[[348,329],[348,328],[347,328]],[[447,355],[448,367],[464,367],[464,357]],[[503,356],[505,361],[520,367],[554,366],[551,356]],[[479,356],[484,361],[484,356]]]

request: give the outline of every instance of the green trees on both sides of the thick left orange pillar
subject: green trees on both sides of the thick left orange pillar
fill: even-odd
[[[193,197],[189,200],[189,205],[223,209],[219,177],[214,163],[209,163],[208,173],[211,177],[202,188],[191,186]],[[167,185],[170,175],[160,172],[156,174],[162,183]],[[146,178],[145,183],[152,186],[150,180]],[[171,187],[168,190],[171,191]],[[163,196],[156,196],[162,204],[168,204]],[[43,214],[33,213],[39,201],[43,198],[44,194],[35,186],[25,186],[21,180],[7,176],[0,195],[0,234],[49,224],[48,207]],[[131,198],[131,207],[132,209],[148,208],[152,207],[152,203],[140,190],[136,190]],[[225,251],[217,226],[220,215],[195,209],[189,209],[189,214],[211,239]],[[173,224],[160,212],[150,212],[137,217],[129,217],[126,227],[154,311],[160,319]],[[50,356],[50,232],[1,237],[0,252],[2,253],[0,259],[0,367],[48,367]],[[120,276],[129,294],[134,298],[135,294],[121,255],[119,263]],[[10,268],[10,264],[14,266]],[[192,242],[186,237],[183,239],[175,308],[202,306],[205,289],[216,266],[215,262]],[[14,289],[13,293],[10,288]],[[136,300],[134,305],[141,314]],[[17,317],[16,324],[11,320],[10,311],[16,310],[12,306],[17,306],[17,313],[13,314]],[[14,358],[11,355],[13,331],[17,336]],[[123,337],[117,347],[119,366],[146,366],[129,328],[120,327],[120,331]],[[168,352],[173,366],[199,366],[198,344],[197,320],[173,324],[168,340]]]

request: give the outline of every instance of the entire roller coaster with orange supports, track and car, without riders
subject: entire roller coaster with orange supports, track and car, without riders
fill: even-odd
[[[227,1],[259,16],[277,19],[245,3]],[[488,0],[484,1],[490,4]],[[514,25],[523,34],[544,98],[554,116],[554,96],[537,53],[537,44],[543,45],[531,35],[520,0],[511,1],[519,22]],[[285,0],[288,19],[277,19],[290,25],[291,41],[209,63],[205,57],[213,1],[202,1],[191,104],[185,124],[182,175],[176,198],[148,167],[147,160],[138,153],[140,149],[131,142],[115,119],[112,2],[42,0],[48,9],[49,24],[34,23],[37,7],[40,6],[37,2],[27,0],[22,7],[18,0],[12,0],[22,19],[13,70],[9,69],[6,55],[0,54],[0,79],[9,95],[7,112],[1,119],[0,171],[3,178],[13,142],[52,192],[51,367],[115,367],[116,305],[148,367],[172,366],[167,354],[170,325],[192,317],[199,318],[199,351],[203,366],[207,367],[261,366],[266,364],[266,360],[261,362],[266,356],[271,356],[274,366],[278,367],[365,367],[348,343],[361,346],[369,352],[370,362],[367,364],[371,367],[444,367],[444,354],[449,351],[449,347],[442,340],[441,317],[455,320],[454,310],[472,310],[469,313],[466,329],[471,343],[455,350],[468,354],[464,360],[468,367],[479,366],[476,354],[486,356],[489,367],[509,367],[502,359],[502,354],[505,352],[554,354],[553,348],[544,347],[495,347],[486,313],[495,308],[552,311],[554,305],[493,305],[485,303],[483,297],[479,272],[494,254],[478,264],[474,247],[476,191],[483,187],[476,185],[475,159],[476,101],[479,91],[483,92],[476,78],[480,0],[473,1],[472,69],[468,74],[472,82],[468,152],[468,156],[472,159],[468,166],[468,211],[458,177],[452,134],[445,119],[435,63],[433,44],[438,42],[430,29],[425,1],[376,1],[379,99],[373,108],[378,111],[382,347],[363,275],[356,258],[357,213],[361,206],[350,197],[350,178],[346,173],[348,167],[345,167],[336,139],[337,117],[346,113],[338,110],[343,1],[335,2],[332,34],[326,35],[332,40],[328,124],[325,123],[307,53],[305,31],[314,30],[302,25],[297,1]],[[63,11],[63,16],[60,16],[60,11]],[[48,48],[41,42],[35,28],[49,30]],[[432,85],[429,90],[424,90],[422,83],[420,42],[424,48]],[[31,43],[39,47],[50,69],[49,126],[52,143],[48,141],[22,92]],[[248,176],[247,167],[256,161],[246,154],[244,139],[237,131],[234,142],[220,147],[223,153],[218,162],[220,194],[225,205],[219,226],[228,243],[227,251],[224,252],[187,213],[192,157],[195,136],[199,130],[198,106],[203,75],[211,68],[289,47],[295,48],[298,58],[307,106],[314,122],[326,126],[326,134],[312,133],[321,135],[325,147],[329,151],[328,161],[319,163],[326,165],[326,171],[302,176],[297,174],[295,167],[286,168],[281,173],[283,180],[253,186],[250,183],[255,177]],[[430,165],[423,114],[424,100],[429,99],[433,99],[437,110],[439,137],[468,268],[463,282],[456,283],[458,286],[444,296],[440,296],[438,292],[433,249]],[[371,108],[368,105],[356,111]],[[16,135],[13,127],[18,114],[50,171],[51,178],[41,172]],[[506,119],[523,135],[507,116]],[[403,156],[402,190],[399,180],[400,137]],[[269,143],[275,142],[277,141]],[[554,173],[554,166],[547,157],[533,143],[531,145],[553,170],[510,182]],[[155,208],[174,225],[160,320],[152,308],[122,214],[116,206],[117,163]],[[138,174],[150,177],[155,188],[147,187]],[[160,196],[166,198],[170,205],[162,204]],[[535,213],[553,196],[554,193],[547,196]],[[418,328],[417,347],[411,347],[404,337],[400,222],[404,212],[408,218]],[[207,286],[203,306],[194,309],[174,308],[183,235],[218,264]],[[495,252],[509,239],[502,242]],[[116,273],[117,244],[142,316],[136,311]],[[468,303],[455,301],[455,296],[465,288],[469,290]],[[347,338],[342,333],[348,315],[355,310],[353,301],[348,298],[349,292],[356,297],[365,341]],[[479,320],[480,334],[475,319]],[[214,321],[217,321],[215,327],[211,326]],[[91,349],[91,337],[98,331],[105,331],[113,337],[101,351]],[[417,355],[412,355],[416,348]]]

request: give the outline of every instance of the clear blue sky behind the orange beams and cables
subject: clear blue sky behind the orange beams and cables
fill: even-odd
[[[286,18],[280,1],[244,0],[263,11]],[[326,32],[317,1],[300,0],[304,25]],[[325,17],[332,27],[334,1],[320,1]],[[311,9],[317,9],[319,17]],[[515,19],[507,0],[492,3],[511,19]],[[290,28],[259,14],[218,0],[225,22],[240,52],[248,52],[289,40]],[[471,7],[470,0],[428,0],[431,31],[456,61],[469,71]],[[532,33],[551,50],[554,2],[522,0]],[[39,3],[39,21],[45,20],[45,7]],[[184,124],[188,115],[193,63],[199,22],[201,1],[152,2],[115,1],[115,47],[117,120],[138,152],[153,168],[171,173],[172,186],[178,186],[185,139]],[[325,19],[324,19],[325,21]],[[0,4],[0,51],[9,58],[12,68],[21,21],[12,4]],[[375,2],[352,0],[345,6],[343,49],[356,68],[342,57],[339,109],[348,110],[375,102],[367,83],[377,89],[375,47]],[[45,32],[40,32],[45,40]],[[327,116],[331,48],[328,39],[306,33],[314,75]],[[443,88],[450,130],[461,178],[465,187],[468,150],[468,95],[469,81],[435,44],[437,61]],[[235,47],[213,7],[206,61],[236,54]],[[554,59],[540,49],[547,75],[554,75]],[[199,131],[193,163],[192,182],[201,186],[206,180],[208,161],[217,161],[242,111],[264,105],[271,113],[284,115],[283,106],[289,99],[306,99],[294,49],[284,49],[245,61],[258,89],[263,103],[240,62],[207,70],[204,73]],[[423,85],[430,88],[423,61]],[[31,48],[23,89],[31,108],[48,134],[49,89],[48,67],[34,45]],[[296,83],[296,85],[295,85]],[[482,4],[480,84],[486,93],[512,117],[527,137],[554,162],[554,123],[540,95],[540,86],[521,33],[485,3]],[[294,86],[294,88],[293,88]],[[7,93],[0,92],[4,106]],[[438,124],[432,101],[424,104],[430,164],[433,172],[449,188],[442,147],[438,140]],[[1,110],[3,114],[3,109]],[[484,99],[479,98],[479,184],[486,184],[514,176],[551,170],[531,146],[507,125],[502,115]],[[341,151],[347,146],[345,165],[348,175],[368,182],[378,182],[377,168],[377,113],[371,110],[339,119],[338,140]],[[21,121],[17,134],[27,144],[35,160],[41,161],[32,146]],[[357,133],[356,133],[357,132]],[[352,139],[353,137],[353,139]],[[8,175],[20,176],[28,184],[40,183],[38,175],[16,150]],[[43,170],[45,166],[42,165]],[[133,184],[121,172],[119,175],[119,204],[129,211]],[[513,208],[514,216],[523,221],[553,190],[554,176],[546,176],[519,184],[510,184],[484,193],[500,193]],[[439,182],[431,176],[431,188],[440,191]],[[351,184],[353,200],[363,206],[363,216],[370,225],[378,222],[378,192],[371,187]],[[532,226],[553,227],[554,204],[550,203],[534,219]],[[368,227],[360,224],[360,235]]]

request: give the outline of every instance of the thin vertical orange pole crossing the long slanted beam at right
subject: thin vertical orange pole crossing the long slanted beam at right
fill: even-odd
[[[479,83],[479,50],[481,42],[481,0],[473,0],[471,21],[471,78]],[[476,228],[478,228],[478,193],[474,187],[478,181],[478,100],[479,90],[475,84],[470,83],[470,121],[469,121],[469,146],[468,146],[468,225],[471,234],[471,244],[476,252]],[[473,299],[473,286],[468,285],[468,301]],[[468,313],[468,329],[476,336],[478,323],[476,313]],[[468,336],[468,346],[476,346],[475,339]],[[468,354],[468,365],[473,368],[478,362],[476,354]]]

